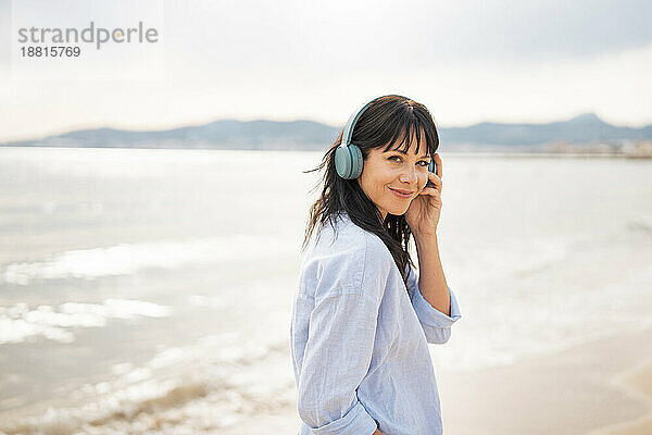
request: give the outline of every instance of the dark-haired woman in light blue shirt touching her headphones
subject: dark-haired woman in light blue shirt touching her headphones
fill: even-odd
[[[360,160],[351,148],[353,160],[341,161],[347,139]],[[446,343],[461,314],[437,246],[438,146],[426,107],[389,95],[354,113],[312,170],[325,167],[323,190],[310,210],[290,326],[300,435],[442,433],[427,343]]]

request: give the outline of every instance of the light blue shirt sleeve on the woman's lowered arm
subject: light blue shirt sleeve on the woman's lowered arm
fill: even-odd
[[[315,302],[298,411],[312,434],[372,435],[376,421],[358,400],[374,347],[378,301],[360,289],[337,289]]]

